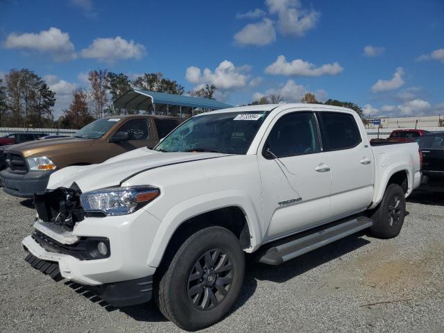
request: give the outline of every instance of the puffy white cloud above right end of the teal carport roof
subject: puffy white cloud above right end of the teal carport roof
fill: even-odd
[[[245,72],[250,71],[249,66],[235,67],[231,61],[224,60],[219,64],[214,72],[205,68],[203,72],[200,68],[190,66],[187,68],[185,78],[194,85],[209,84],[215,85],[220,90],[230,90],[244,87],[248,81]]]

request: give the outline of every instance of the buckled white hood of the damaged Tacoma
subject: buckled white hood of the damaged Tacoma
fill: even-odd
[[[92,191],[104,187],[119,186],[129,178],[151,169],[173,164],[197,162],[210,158],[230,156],[222,153],[161,153],[148,148],[139,148],[112,157],[101,164],[74,166],[51,174],[48,189],[70,187],[74,182],[81,191]],[[150,180],[146,180],[150,185]]]

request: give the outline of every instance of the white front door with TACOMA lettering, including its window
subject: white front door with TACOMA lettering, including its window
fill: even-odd
[[[265,137],[257,158],[269,241],[330,218],[331,173],[313,112],[285,112]]]

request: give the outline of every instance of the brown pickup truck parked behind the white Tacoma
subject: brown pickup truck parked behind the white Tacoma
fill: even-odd
[[[32,198],[44,191],[49,176],[72,165],[101,163],[135,148],[153,148],[159,139],[178,126],[180,119],[150,115],[98,119],[73,137],[37,140],[3,150],[6,169],[0,171],[3,191]]]

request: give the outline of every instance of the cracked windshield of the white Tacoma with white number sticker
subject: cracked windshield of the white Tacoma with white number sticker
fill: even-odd
[[[227,112],[193,117],[173,130],[156,151],[246,154],[269,112]]]

